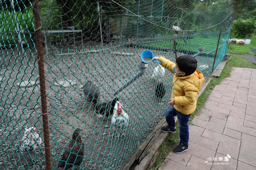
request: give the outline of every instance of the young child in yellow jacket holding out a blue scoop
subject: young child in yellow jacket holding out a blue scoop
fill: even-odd
[[[198,89],[202,87],[204,76],[197,70],[197,61],[192,55],[183,55],[176,59],[176,63],[164,57],[154,57],[153,60],[162,62],[161,65],[174,74],[171,91],[171,105],[165,113],[166,127],[161,127],[163,132],[176,132],[174,117],[179,121],[179,145],[173,148],[175,153],[181,153],[188,149],[188,121],[191,113],[196,110]]]

